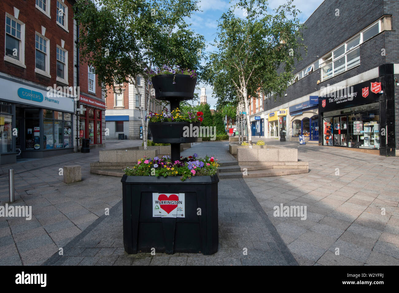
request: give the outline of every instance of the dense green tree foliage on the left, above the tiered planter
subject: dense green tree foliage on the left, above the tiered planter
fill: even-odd
[[[144,68],[164,64],[200,67],[205,39],[186,22],[197,0],[77,0],[74,9],[81,61],[94,67],[99,85],[134,83]]]

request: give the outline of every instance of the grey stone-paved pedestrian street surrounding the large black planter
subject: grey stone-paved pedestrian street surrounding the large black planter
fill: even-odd
[[[14,169],[13,205],[32,206],[32,219],[0,218],[0,265],[399,265],[399,158],[265,142],[297,148],[309,173],[221,179],[211,256],[124,252],[120,177],[89,173],[101,148],[2,166],[0,205]],[[196,143],[182,155],[234,161],[228,144]],[[105,149],[139,145],[107,141]],[[82,166],[83,181],[63,183],[59,168],[69,164]],[[306,219],[275,216],[281,205],[306,207]]]

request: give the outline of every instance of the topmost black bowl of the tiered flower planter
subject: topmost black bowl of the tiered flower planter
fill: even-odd
[[[173,77],[175,76],[175,83]],[[152,77],[152,86],[155,89],[155,97],[158,100],[191,100],[194,98],[194,90],[197,78],[194,79],[186,74],[160,74]]]

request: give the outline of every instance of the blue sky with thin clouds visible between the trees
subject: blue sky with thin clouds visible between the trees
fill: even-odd
[[[305,22],[308,17],[318,8],[323,0],[294,0],[294,5],[301,11],[299,19]],[[285,3],[284,0],[269,0],[270,11],[277,8],[280,4]],[[191,17],[191,28],[203,35],[207,43],[212,43],[217,32],[217,21],[223,12],[226,12],[231,4],[229,0],[201,0],[199,6],[202,12],[196,12]],[[269,10],[269,9],[268,9]],[[208,46],[207,51],[212,51],[213,47]],[[202,87],[203,85],[200,85]],[[216,105],[216,99],[212,98],[212,88],[205,85],[207,102],[213,108]],[[200,95],[200,90],[196,90]]]

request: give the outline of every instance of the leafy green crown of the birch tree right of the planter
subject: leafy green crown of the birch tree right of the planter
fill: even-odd
[[[292,0],[273,14],[267,12],[267,0],[238,0],[221,16],[217,51],[207,56],[203,73],[219,107],[246,98],[245,88],[248,97],[275,92],[276,98],[286,90],[303,49],[298,13]]]

